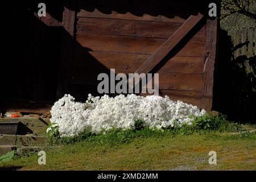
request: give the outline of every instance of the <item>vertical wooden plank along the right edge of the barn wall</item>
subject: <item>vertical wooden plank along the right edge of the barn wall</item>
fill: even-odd
[[[201,108],[212,110],[214,65],[217,59],[218,18],[207,20],[207,42],[205,48],[204,85]]]

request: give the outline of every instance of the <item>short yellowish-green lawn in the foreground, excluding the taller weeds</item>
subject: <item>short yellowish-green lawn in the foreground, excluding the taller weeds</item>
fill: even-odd
[[[116,143],[116,142],[114,142]],[[217,165],[208,163],[217,152]],[[193,133],[137,136],[126,143],[84,140],[46,150],[46,165],[38,156],[0,162],[0,169],[18,170],[256,170],[256,134]]]

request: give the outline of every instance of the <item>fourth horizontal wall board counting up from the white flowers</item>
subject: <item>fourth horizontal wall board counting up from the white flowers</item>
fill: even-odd
[[[117,53],[142,53],[152,54],[165,41],[156,38],[137,38],[131,36],[79,34],[76,37],[76,46],[82,46],[90,51],[117,52]],[[205,42],[191,40],[177,56],[205,56]]]

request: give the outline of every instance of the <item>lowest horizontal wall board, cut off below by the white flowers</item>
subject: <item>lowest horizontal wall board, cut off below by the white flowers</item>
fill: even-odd
[[[150,94],[140,94],[147,96]],[[186,104],[192,104],[200,108],[201,92],[185,90],[159,90],[159,96],[168,96],[170,100],[183,101]]]

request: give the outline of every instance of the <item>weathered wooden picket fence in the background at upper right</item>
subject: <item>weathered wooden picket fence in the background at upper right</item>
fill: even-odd
[[[242,27],[240,30],[234,31],[234,47],[241,43],[246,43],[245,46],[237,49],[234,55],[246,55],[247,57],[256,55],[256,26]]]

